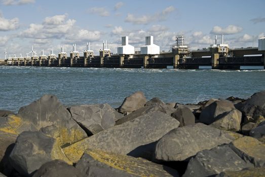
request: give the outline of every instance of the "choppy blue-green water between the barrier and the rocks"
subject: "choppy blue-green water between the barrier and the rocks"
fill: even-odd
[[[247,98],[265,90],[265,70],[181,70],[65,67],[0,67],[0,109],[54,94],[65,105],[109,103],[142,91],[147,99],[198,103],[210,98]]]

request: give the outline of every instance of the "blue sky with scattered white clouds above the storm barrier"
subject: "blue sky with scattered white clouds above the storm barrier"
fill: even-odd
[[[103,40],[116,54],[122,36],[136,51],[148,35],[161,51],[179,34],[191,50],[208,48],[215,35],[220,43],[221,34],[230,48],[257,47],[265,35],[264,7],[264,0],[0,0],[0,58],[25,56],[32,46],[37,54],[51,48],[58,54],[62,45],[69,53],[73,43],[83,52],[87,42],[98,55]]]

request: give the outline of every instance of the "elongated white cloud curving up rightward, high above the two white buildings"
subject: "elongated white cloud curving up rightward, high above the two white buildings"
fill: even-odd
[[[133,14],[128,13],[125,19],[125,22],[133,23],[133,24],[149,24],[156,21],[164,21],[167,16],[175,11],[173,6],[167,7],[162,12],[154,14],[154,15],[143,15],[140,17],[136,17]]]

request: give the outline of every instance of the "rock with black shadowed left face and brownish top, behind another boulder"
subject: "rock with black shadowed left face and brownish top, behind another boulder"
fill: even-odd
[[[217,116],[232,111],[233,109],[235,109],[235,106],[232,103],[215,101],[202,110],[199,121],[207,125],[211,124],[217,120]]]

